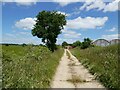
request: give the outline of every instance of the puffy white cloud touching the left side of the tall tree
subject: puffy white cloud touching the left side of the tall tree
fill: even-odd
[[[15,26],[19,29],[31,30],[36,23],[35,20],[36,18],[21,19],[15,23]]]

